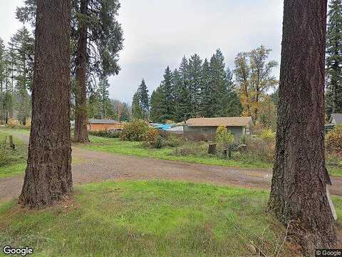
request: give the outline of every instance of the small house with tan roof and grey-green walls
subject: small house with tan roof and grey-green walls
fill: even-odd
[[[185,136],[191,134],[207,136],[212,138],[216,135],[217,128],[225,126],[230,132],[233,133],[235,138],[240,136],[248,136],[253,126],[251,117],[219,117],[219,118],[196,118],[187,120],[184,125]]]

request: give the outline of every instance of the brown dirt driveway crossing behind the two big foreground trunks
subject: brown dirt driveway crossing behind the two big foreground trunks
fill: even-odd
[[[26,135],[19,137],[27,140]],[[73,158],[77,160],[76,163],[73,163],[72,168],[74,183],[127,179],[170,179],[264,189],[269,189],[271,184],[271,170],[163,161],[81,148],[73,148]],[[331,193],[342,196],[342,178],[335,177],[332,180]],[[23,176],[0,178],[0,201],[18,197],[23,181]]]

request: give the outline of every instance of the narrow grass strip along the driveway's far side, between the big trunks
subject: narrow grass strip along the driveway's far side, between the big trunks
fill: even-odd
[[[90,136],[90,141],[91,143],[76,144],[76,146],[94,151],[118,153],[130,156],[150,157],[170,161],[186,161],[191,163],[240,168],[271,168],[270,163],[264,163],[262,161],[236,161],[214,156],[176,156],[172,153],[172,148],[145,148],[141,146],[141,142],[121,141],[119,138],[101,138],[97,136]]]

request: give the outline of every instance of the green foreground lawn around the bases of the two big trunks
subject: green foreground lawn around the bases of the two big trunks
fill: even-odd
[[[73,201],[44,211],[0,205],[0,246],[35,256],[271,256],[284,228],[265,212],[266,191],[128,181],[76,186]],[[342,215],[342,199],[333,198]],[[284,247],[279,256],[293,256]]]

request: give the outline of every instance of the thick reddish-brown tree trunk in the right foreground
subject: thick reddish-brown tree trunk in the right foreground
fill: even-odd
[[[269,209],[304,253],[336,242],[326,196],[324,57],[326,0],[285,0],[276,161]]]

